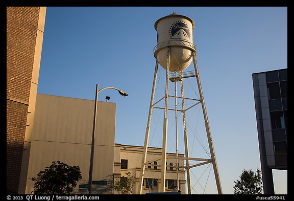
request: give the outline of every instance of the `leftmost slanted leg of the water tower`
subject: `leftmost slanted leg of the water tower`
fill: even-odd
[[[153,86],[152,86],[152,94],[151,94],[150,106],[149,106],[148,123],[147,123],[146,133],[145,133],[145,141],[144,141],[142,163],[141,163],[141,170],[140,170],[140,177],[139,177],[139,188],[138,188],[136,194],[142,194],[142,187],[143,187],[143,181],[144,181],[144,172],[145,172],[145,165],[144,164],[146,163],[146,155],[147,155],[147,149],[148,149],[148,141],[149,141],[149,133],[150,133],[150,122],[151,122],[153,102],[154,102],[157,71],[158,71],[158,60],[156,59],[154,78],[153,78]]]

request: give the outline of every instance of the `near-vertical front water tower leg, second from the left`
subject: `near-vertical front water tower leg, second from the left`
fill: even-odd
[[[165,104],[164,104],[164,119],[163,119],[163,134],[162,134],[162,156],[161,156],[161,182],[158,192],[165,191],[165,170],[166,170],[166,137],[167,137],[167,109],[168,109],[168,84],[169,84],[169,54],[170,47],[167,47],[167,65],[165,79]]]

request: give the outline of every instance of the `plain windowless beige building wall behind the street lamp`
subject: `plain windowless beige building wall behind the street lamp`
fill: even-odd
[[[98,102],[93,181],[112,180],[116,104]],[[94,101],[37,94],[26,193],[33,190],[32,177],[61,161],[81,168],[82,180],[72,193],[85,193],[88,183]],[[110,183],[109,183],[110,184]],[[92,193],[101,192],[94,188]],[[112,187],[103,188],[112,193]]]

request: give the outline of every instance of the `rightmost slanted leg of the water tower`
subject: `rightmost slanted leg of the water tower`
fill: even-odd
[[[218,173],[218,169],[217,169],[214,147],[213,147],[213,143],[212,143],[211,132],[210,132],[207,112],[206,112],[206,108],[205,108],[205,104],[204,104],[204,96],[203,96],[203,92],[202,92],[202,86],[201,86],[201,82],[200,82],[200,77],[199,77],[199,72],[198,72],[198,67],[197,67],[195,55],[196,55],[196,53],[194,52],[192,54],[192,57],[193,57],[193,63],[194,63],[194,68],[195,68],[195,77],[196,77],[197,83],[198,83],[199,95],[200,95],[200,100],[201,100],[201,104],[202,104],[207,140],[208,140],[208,144],[209,144],[209,150],[210,150],[212,166],[213,166],[213,170],[214,170],[217,192],[218,192],[218,194],[223,194],[222,185],[220,185],[219,173]]]

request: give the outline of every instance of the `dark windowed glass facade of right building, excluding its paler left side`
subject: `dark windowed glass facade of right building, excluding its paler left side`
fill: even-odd
[[[287,69],[265,72],[276,165],[287,165]]]

